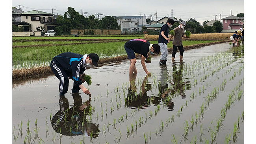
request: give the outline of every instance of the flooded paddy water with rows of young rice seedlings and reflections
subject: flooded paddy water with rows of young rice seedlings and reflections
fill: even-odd
[[[13,143],[243,143],[243,48],[228,43],[90,68],[92,96],[59,97],[55,76],[13,83]],[[82,92],[80,90],[80,92]],[[89,103],[90,102],[90,103]],[[63,107],[62,107],[63,106]]]

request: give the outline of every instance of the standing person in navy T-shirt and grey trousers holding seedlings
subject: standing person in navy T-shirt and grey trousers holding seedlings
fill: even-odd
[[[172,27],[173,24],[174,24],[174,21],[171,18],[169,18],[166,24],[164,24],[161,27],[161,30],[159,33],[158,45],[160,46],[160,52],[161,52],[161,57],[159,62],[160,65],[166,64],[166,61],[167,61],[167,56],[168,56],[167,43],[170,42],[168,38],[168,30],[169,28]]]

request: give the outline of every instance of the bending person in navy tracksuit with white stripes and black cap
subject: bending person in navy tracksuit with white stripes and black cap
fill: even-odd
[[[85,82],[81,78],[86,67],[98,66],[99,57],[97,54],[75,54],[71,52],[65,52],[56,55],[51,63],[50,67],[54,75],[59,79],[59,96],[64,96],[69,88],[69,78],[73,79],[74,84],[72,90],[73,93],[78,93],[82,89],[83,93],[91,95],[88,89],[86,89],[82,83]]]

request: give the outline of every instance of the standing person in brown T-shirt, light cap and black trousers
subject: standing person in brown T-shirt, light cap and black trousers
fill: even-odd
[[[185,37],[184,27],[186,26],[186,22],[181,22],[178,27],[174,29],[174,35],[171,35],[170,39],[173,37],[173,54],[172,61],[174,62],[174,58],[177,52],[177,48],[180,50],[180,61],[183,59],[183,45],[182,45],[182,37]]]

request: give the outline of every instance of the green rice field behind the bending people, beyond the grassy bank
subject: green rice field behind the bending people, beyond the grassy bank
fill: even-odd
[[[128,38],[128,37],[124,37]],[[135,37],[130,37],[135,38]],[[139,37],[137,37],[139,38]],[[126,55],[124,43],[129,39],[83,39],[83,41],[63,40],[13,40],[13,70],[37,68],[50,66],[52,58],[63,52],[74,52],[78,54],[96,53],[100,59],[107,57],[117,57]],[[157,41],[150,41],[157,43]],[[193,45],[200,43],[209,43],[212,41],[184,41],[183,45]],[[171,42],[167,44],[168,48],[172,47]]]

